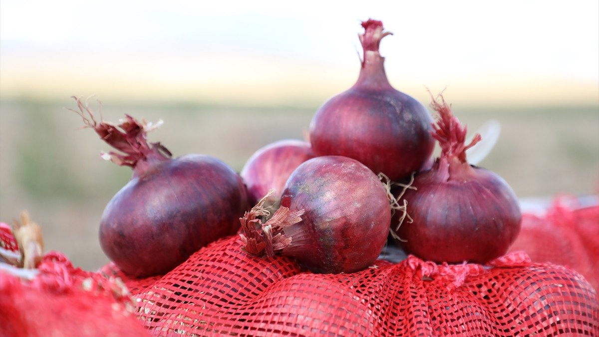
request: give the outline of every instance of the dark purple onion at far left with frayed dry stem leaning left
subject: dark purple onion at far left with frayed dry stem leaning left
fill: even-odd
[[[118,126],[98,123],[75,99],[84,124],[124,153],[103,157],[133,169],[129,183],[106,206],[99,232],[102,249],[123,272],[138,277],[168,272],[202,246],[237,232],[248,205],[234,170],[207,155],[171,158],[160,143],[147,143],[150,125],[129,115]]]

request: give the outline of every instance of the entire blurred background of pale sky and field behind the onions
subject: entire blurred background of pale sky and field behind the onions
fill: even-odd
[[[152,142],[239,171],[353,85],[368,18],[394,33],[380,47],[395,88],[427,106],[444,91],[470,131],[500,122],[480,166],[522,200],[597,194],[597,1],[2,0],[0,220],[26,209],[47,250],[98,268],[102,211],[131,170],[101,160],[69,97],[94,95],[106,121],[163,119]]]

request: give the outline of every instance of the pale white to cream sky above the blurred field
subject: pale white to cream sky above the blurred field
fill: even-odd
[[[394,33],[390,82],[417,98],[599,101],[591,0],[2,0],[0,95],[317,104],[355,82],[368,18]]]

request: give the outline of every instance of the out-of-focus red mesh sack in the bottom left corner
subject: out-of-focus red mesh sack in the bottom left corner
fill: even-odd
[[[18,251],[10,227],[0,223],[0,242]],[[72,266],[59,252],[37,269],[3,263],[0,269],[0,336],[147,336],[135,302],[122,281]]]

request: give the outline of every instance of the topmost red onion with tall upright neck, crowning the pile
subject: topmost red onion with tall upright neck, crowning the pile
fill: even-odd
[[[364,60],[358,82],[332,97],[314,115],[310,142],[316,155],[354,158],[374,173],[400,180],[419,170],[432,154],[431,116],[422,104],[395,90],[379,54],[383,23],[362,22]]]

